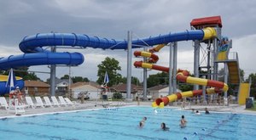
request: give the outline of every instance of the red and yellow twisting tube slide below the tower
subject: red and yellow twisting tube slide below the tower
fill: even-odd
[[[209,28],[207,28],[207,30],[208,29]],[[211,31],[209,31],[209,32],[212,32],[212,33],[208,34],[207,37],[201,38],[201,40],[207,40],[207,39],[210,39],[213,36],[215,36],[213,30],[211,28]],[[142,61],[136,61],[134,63],[134,66],[152,69],[152,70],[160,70],[160,71],[169,72],[168,67],[151,64],[151,63],[156,63],[159,59],[158,56],[154,54],[154,52],[159,52],[159,50],[161,48],[163,48],[165,45],[166,44],[160,44],[157,47],[150,49],[148,52],[145,52],[145,51],[134,52],[134,55],[137,57],[143,56],[143,57],[149,58],[148,63],[143,63]],[[207,80],[207,79],[191,77],[191,76],[189,76],[189,71],[187,71],[187,70],[178,70],[176,77],[177,77],[177,81],[182,81],[182,82],[186,82],[186,83],[190,83],[190,84],[197,84],[197,85],[201,85],[201,86],[213,87],[213,88],[207,88],[207,90],[206,90],[207,94],[226,92],[229,89],[228,85],[222,81],[212,81],[212,80]],[[197,95],[202,95],[202,90],[172,93],[171,95],[169,95],[167,97],[157,98],[154,101],[154,103],[152,104],[152,106],[163,108],[166,104],[176,101],[177,99],[181,99],[183,97],[194,97]]]

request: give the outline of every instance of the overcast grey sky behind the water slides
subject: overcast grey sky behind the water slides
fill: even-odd
[[[253,0],[0,0],[0,57],[21,54],[19,43],[24,36],[51,31],[80,33],[124,40],[127,31],[133,38],[157,36],[189,30],[195,18],[220,15],[222,34],[233,40],[231,52],[238,52],[239,64],[246,75],[256,73],[256,2]],[[158,64],[168,66],[169,52],[164,48]],[[126,52],[101,49],[57,49],[58,52],[84,54],[84,64],[72,68],[72,76],[97,80],[97,64],[106,57],[119,60],[126,76]],[[178,42],[178,68],[193,72],[192,42]],[[132,58],[135,60],[142,60]],[[49,71],[47,66],[32,66],[30,70]],[[142,79],[142,69],[132,66],[132,76]],[[149,74],[158,71],[150,70]],[[57,77],[68,74],[67,68],[57,68]],[[37,73],[42,80],[48,74]]]

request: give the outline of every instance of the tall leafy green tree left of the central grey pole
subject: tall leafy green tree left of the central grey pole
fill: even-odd
[[[104,61],[102,61],[102,64],[98,64],[97,83],[103,83],[104,76],[107,71],[109,79],[108,86],[111,87],[114,84],[118,84],[120,81],[122,81],[122,76],[118,73],[119,70],[121,70],[121,67],[119,66],[119,61],[107,57]]]

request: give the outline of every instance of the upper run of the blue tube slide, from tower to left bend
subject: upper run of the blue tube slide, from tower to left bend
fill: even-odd
[[[186,40],[201,40],[204,32],[201,30],[183,31],[159,36],[149,36],[144,39],[132,41],[132,48],[141,48],[141,46],[153,46],[161,43],[179,42]],[[116,41],[114,39],[90,37],[74,33],[48,33],[26,36],[20,42],[20,50],[23,53],[44,52],[45,46],[72,46],[82,48],[102,48],[102,49],[126,49],[127,42]],[[1,69],[1,67],[0,67]]]

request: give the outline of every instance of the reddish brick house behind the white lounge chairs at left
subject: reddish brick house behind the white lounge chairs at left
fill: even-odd
[[[24,88],[21,92],[25,92],[29,96],[48,96],[49,84],[43,81],[25,81]]]

